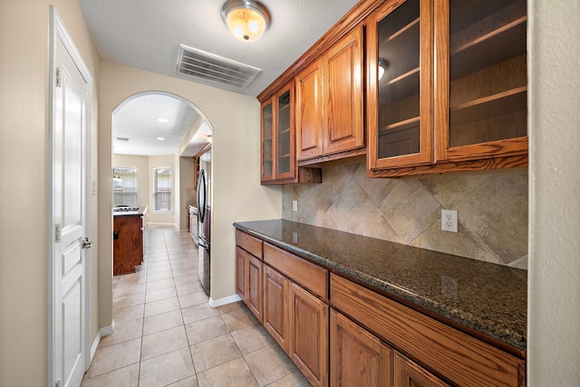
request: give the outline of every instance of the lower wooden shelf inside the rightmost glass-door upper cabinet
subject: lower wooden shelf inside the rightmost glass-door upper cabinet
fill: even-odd
[[[507,92],[499,92],[478,100],[452,106],[451,126],[470,121],[478,121],[490,116],[498,116],[512,111],[526,111],[527,87],[522,86]]]

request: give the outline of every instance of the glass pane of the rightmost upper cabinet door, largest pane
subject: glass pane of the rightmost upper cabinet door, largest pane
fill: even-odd
[[[449,147],[527,135],[525,0],[450,0]]]

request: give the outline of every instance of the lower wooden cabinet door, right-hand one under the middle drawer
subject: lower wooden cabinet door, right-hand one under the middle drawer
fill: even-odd
[[[289,355],[314,387],[328,385],[328,305],[289,286]]]

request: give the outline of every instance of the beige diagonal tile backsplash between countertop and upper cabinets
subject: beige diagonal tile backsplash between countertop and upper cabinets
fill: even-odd
[[[344,165],[283,186],[282,218],[527,269],[527,185],[526,172],[369,179]],[[458,233],[441,231],[441,209],[458,210]]]

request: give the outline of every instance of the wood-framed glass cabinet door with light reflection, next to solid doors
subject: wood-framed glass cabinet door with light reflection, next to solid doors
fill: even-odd
[[[368,18],[368,169],[433,161],[433,4],[385,2]]]

